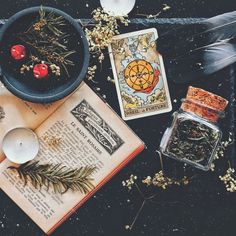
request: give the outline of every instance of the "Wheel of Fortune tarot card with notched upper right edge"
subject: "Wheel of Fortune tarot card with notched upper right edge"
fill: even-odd
[[[155,28],[115,36],[109,45],[122,118],[131,120],[172,110]]]

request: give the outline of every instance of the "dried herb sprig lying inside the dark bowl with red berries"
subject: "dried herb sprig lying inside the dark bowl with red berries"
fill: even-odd
[[[21,73],[31,70],[36,62],[44,61],[54,75],[60,76],[62,67],[69,77],[67,66],[74,66],[69,57],[76,51],[69,50],[64,43],[69,37],[69,34],[62,30],[65,25],[62,16],[57,16],[53,12],[46,14],[43,7],[40,8],[39,20],[18,35],[20,40],[31,47],[33,55],[30,61],[21,67]],[[32,57],[38,60],[32,60]]]

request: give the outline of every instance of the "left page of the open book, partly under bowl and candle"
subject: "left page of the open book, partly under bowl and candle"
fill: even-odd
[[[10,93],[0,82],[0,147],[5,134],[16,127],[37,128],[63,102],[53,104],[35,104],[23,101]],[[0,148],[0,162],[5,156]]]

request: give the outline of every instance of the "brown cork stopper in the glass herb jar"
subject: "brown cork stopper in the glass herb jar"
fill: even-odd
[[[217,122],[228,104],[228,101],[221,96],[206,90],[189,86],[186,99],[181,105],[181,109],[191,112],[207,119]]]

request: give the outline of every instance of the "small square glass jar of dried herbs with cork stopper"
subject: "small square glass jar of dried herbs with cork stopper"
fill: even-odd
[[[228,101],[203,89],[189,87],[180,110],[173,114],[160,144],[161,152],[202,170],[209,170],[222,132],[217,121]]]

